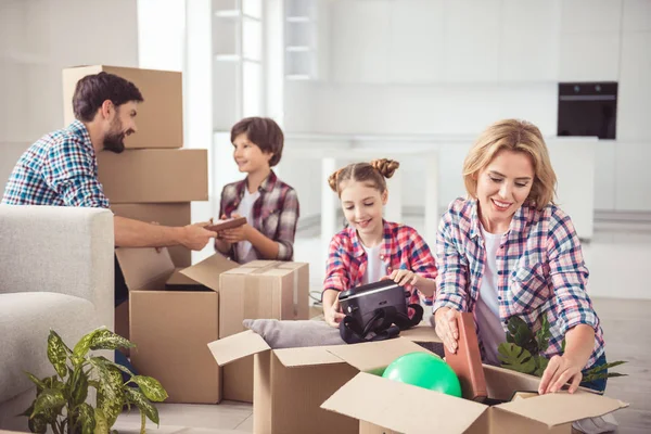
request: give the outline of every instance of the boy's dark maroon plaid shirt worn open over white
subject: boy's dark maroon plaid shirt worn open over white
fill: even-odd
[[[222,215],[230,217],[238,212],[238,206],[244,197],[246,179],[227,184],[221,191],[221,202],[219,205],[219,217]],[[265,237],[278,242],[278,259],[293,260],[294,258],[294,235],[296,234],[296,224],[298,222],[298,196],[296,191],[282,182],[273,170],[263,181],[258,188],[260,196],[253,204],[253,221],[251,226],[259,230]],[[259,258],[260,254],[252,246]],[[231,246],[229,257],[238,261],[238,250]]]

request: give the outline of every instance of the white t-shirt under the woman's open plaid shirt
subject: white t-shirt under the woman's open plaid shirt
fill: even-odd
[[[503,233],[488,233],[480,225],[484,247],[486,248],[486,266],[480,286],[480,296],[475,305],[480,339],[486,352],[486,361],[499,366],[497,347],[507,341],[506,332],[499,320],[499,301],[497,298],[497,251]]]

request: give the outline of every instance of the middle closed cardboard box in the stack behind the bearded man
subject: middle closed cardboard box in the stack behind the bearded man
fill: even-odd
[[[208,200],[206,150],[102,151],[98,168],[112,204]]]

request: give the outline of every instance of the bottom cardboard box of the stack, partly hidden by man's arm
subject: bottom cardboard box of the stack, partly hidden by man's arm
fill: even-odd
[[[111,204],[116,216],[132,218],[148,224],[157,221],[163,226],[186,226],[192,224],[190,203],[168,204]],[[192,265],[192,251],[176,245],[167,247],[171,261],[176,267],[186,268]]]

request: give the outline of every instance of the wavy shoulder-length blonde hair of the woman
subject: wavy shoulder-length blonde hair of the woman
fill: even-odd
[[[526,202],[538,209],[553,204],[557,177],[542,135],[535,125],[519,119],[505,119],[493,124],[472,146],[463,162],[463,182],[468,194],[476,199],[480,171],[502,150],[522,152],[532,159],[534,180]]]

